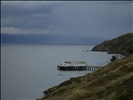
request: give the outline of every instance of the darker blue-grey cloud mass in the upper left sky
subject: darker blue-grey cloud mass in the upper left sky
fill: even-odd
[[[48,28],[55,18],[52,15],[54,7],[41,2],[3,3],[2,27]]]

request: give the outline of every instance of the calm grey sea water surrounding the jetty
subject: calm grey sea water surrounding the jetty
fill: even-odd
[[[85,61],[103,66],[112,55],[106,52],[84,52],[93,46],[84,45],[2,45],[2,100],[35,100],[43,91],[89,71],[58,71],[64,61]]]

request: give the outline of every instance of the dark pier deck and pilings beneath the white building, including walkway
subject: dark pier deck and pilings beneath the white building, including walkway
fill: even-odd
[[[63,71],[68,71],[68,70],[71,70],[71,71],[75,71],[75,70],[87,70],[87,71],[95,71],[95,70],[98,70],[99,68],[101,68],[101,66],[69,66],[69,67],[60,67],[60,66],[57,66],[57,69],[58,70],[63,70]]]

